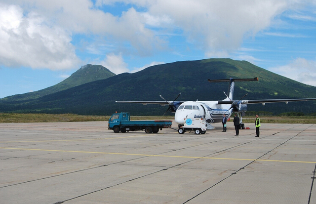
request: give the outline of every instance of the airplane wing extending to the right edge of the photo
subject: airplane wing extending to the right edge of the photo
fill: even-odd
[[[241,104],[256,104],[256,103],[280,103],[280,102],[292,102],[292,101],[314,101],[316,98],[289,98],[289,99],[259,99],[259,100],[242,100]],[[218,104],[235,104],[239,101],[218,101]]]

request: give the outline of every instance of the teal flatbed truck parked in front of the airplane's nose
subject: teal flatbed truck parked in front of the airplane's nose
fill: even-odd
[[[109,119],[109,128],[115,133],[145,130],[146,133],[158,133],[162,128],[171,127],[172,121],[131,121],[129,113],[115,113]]]

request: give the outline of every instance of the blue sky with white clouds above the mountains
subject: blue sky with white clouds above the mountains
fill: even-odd
[[[120,74],[206,58],[316,86],[315,47],[316,0],[0,0],[0,98],[85,64]]]

